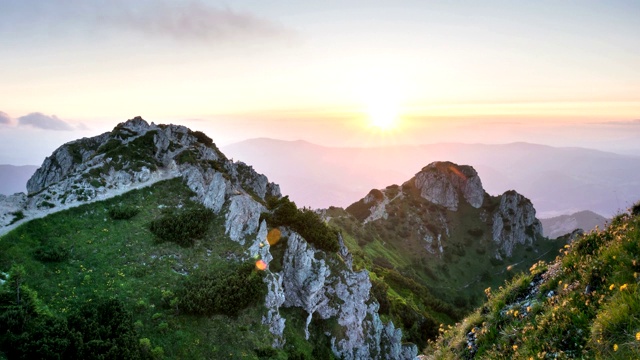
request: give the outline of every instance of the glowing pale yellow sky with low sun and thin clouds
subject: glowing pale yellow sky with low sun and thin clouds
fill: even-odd
[[[135,116],[327,146],[640,156],[638,1],[0,2],[0,164]]]

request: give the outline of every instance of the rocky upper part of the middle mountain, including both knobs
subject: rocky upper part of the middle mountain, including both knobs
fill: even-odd
[[[417,211],[416,206],[425,208]],[[491,197],[473,167],[451,162],[429,164],[402,186],[373,189],[346,210],[363,224],[404,223],[401,237],[421,239],[428,253],[442,256],[452,236],[449,224],[461,207],[470,207],[465,211],[473,215],[465,216],[484,224],[486,230],[470,231],[489,235],[497,259],[510,257],[516,244],[528,245],[542,236],[536,211],[526,197],[515,191]]]

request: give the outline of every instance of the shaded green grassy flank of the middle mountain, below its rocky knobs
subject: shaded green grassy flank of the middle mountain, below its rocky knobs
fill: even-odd
[[[565,244],[541,238],[532,245],[516,245],[510,258],[497,261],[492,229],[481,212],[495,210],[499,198],[487,196],[481,209],[462,201],[457,211],[449,211],[423,199],[410,185],[389,187],[385,195],[395,198],[401,190],[404,195],[386,206],[387,219],[362,224],[359,220],[369,207],[362,201],[346,210],[329,209],[327,215],[342,230],[355,268],[368,269],[375,274],[372,278],[389,286],[387,298],[395,305],[388,317],[403,327],[405,340],[415,333],[407,312],[452,325],[482,304],[485,288],[500,286],[539,260],[553,260]],[[382,196],[380,192],[378,198]],[[442,253],[437,239],[427,249],[425,229],[441,235]],[[435,331],[437,326],[422,329],[422,339],[411,340],[421,345]]]

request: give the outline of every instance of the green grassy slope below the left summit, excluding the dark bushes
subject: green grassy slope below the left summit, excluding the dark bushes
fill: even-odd
[[[133,310],[140,337],[161,346],[168,358],[256,358],[253,350],[272,341],[261,325],[263,305],[237,319],[181,315],[168,305],[184,278],[180,272],[224,266],[243,253],[224,235],[222,217],[193,247],[155,241],[149,222],[162,208],[193,205],[189,197],[180,180],[170,180],[33,220],[0,239],[0,271],[8,272],[13,263],[24,266],[25,284],[54,316],[98,297],[120,299]],[[130,220],[110,219],[108,209],[120,205],[140,212]],[[34,249],[55,244],[69,251],[68,259],[34,258]]]

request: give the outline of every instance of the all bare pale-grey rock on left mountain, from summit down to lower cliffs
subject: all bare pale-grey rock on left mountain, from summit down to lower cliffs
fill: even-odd
[[[184,180],[194,199],[224,216],[226,235],[244,246],[247,258],[272,261],[267,224],[260,222],[260,215],[266,211],[267,197],[281,196],[279,186],[250,166],[227,159],[203,133],[149,124],[140,117],[54,151],[29,179],[28,195],[0,197],[0,226],[9,224],[14,212],[23,212],[28,220],[176,177]],[[339,254],[326,254],[298,234],[282,230],[289,241],[282,271],[265,277],[267,313],[262,319],[274,335],[274,347],[286,341],[286,319],[279,309],[300,307],[309,314],[307,327],[313,314],[337,320],[341,330],[330,336],[340,357],[415,357],[417,348],[402,345],[401,331],[380,320],[368,273],[352,270],[342,239]]]

